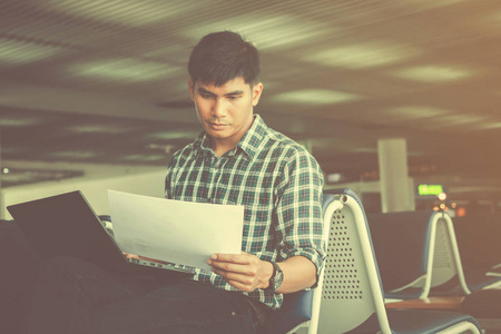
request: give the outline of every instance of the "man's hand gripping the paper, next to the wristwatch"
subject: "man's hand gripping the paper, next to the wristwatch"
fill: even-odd
[[[213,254],[207,264],[228,284],[244,292],[268,287],[273,274],[273,265],[269,262],[261,261],[257,256],[245,252]]]

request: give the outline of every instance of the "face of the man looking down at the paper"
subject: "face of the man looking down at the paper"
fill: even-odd
[[[198,120],[213,139],[213,145],[235,147],[253,124],[254,106],[259,101],[263,85],[250,86],[237,77],[223,86],[188,82]]]

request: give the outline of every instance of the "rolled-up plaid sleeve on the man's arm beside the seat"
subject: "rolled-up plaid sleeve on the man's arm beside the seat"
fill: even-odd
[[[281,185],[276,212],[278,257],[308,258],[317,269],[325,259],[322,239],[322,188],[324,179],[316,160],[306,151],[296,151],[287,161]]]

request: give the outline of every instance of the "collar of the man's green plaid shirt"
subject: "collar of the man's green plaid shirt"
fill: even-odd
[[[228,153],[228,156],[234,156],[237,151],[243,151],[250,160],[256,156],[259,143],[266,136],[267,126],[259,115],[254,115],[254,121],[250,128],[242,137],[238,145]],[[194,148],[199,153],[212,153],[213,146],[210,144],[210,137],[207,132],[203,131],[194,141]]]

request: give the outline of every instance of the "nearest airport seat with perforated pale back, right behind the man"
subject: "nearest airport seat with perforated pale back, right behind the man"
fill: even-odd
[[[389,310],[365,213],[350,189],[334,193],[318,333],[480,333],[474,317],[418,310]]]

